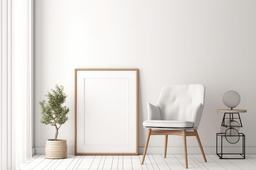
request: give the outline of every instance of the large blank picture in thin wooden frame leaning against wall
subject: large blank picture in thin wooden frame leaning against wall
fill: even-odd
[[[138,155],[138,69],[75,69],[75,155]]]

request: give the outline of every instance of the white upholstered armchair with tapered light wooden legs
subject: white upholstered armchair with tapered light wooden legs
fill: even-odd
[[[202,84],[164,86],[157,104],[148,103],[148,120],[143,122],[144,128],[148,128],[148,137],[141,164],[144,163],[150,135],[165,135],[165,158],[168,135],[183,136],[186,168],[186,136],[195,136],[207,162],[197,132],[204,108],[204,94],[205,87]]]

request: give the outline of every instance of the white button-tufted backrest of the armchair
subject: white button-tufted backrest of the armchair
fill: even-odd
[[[198,128],[204,108],[202,84],[168,85],[162,88],[157,106],[162,120],[192,121]]]

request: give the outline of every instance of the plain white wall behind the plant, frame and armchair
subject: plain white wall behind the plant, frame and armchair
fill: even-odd
[[[34,146],[40,152],[54,127],[40,123],[39,101],[55,84],[69,95],[69,120],[59,132],[74,147],[74,68],[139,68],[139,152],[144,147],[146,102],[166,84],[206,86],[199,126],[202,145],[215,153],[216,132],[227,109],[222,95],[241,96],[238,109],[247,149],[256,147],[255,0],[35,0]],[[182,147],[170,137],[170,147]],[[188,146],[197,147],[188,137]],[[163,147],[153,136],[149,147]],[[37,152],[37,151],[36,151]],[[171,152],[171,150],[170,150]],[[183,150],[181,150],[183,152]],[[162,153],[162,152],[161,152]],[[207,152],[206,152],[207,153]],[[256,152],[255,152],[256,153]],[[255,154],[254,153],[254,154]]]

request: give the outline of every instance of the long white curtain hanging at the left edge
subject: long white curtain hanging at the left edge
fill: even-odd
[[[0,169],[31,160],[33,1],[1,0]]]

